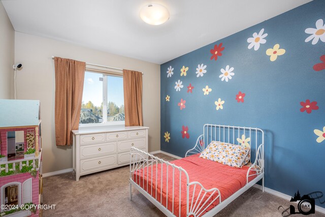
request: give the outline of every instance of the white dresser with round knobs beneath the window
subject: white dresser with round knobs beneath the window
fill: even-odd
[[[73,133],[73,168],[80,176],[129,164],[130,149],[148,152],[148,127],[85,128]]]

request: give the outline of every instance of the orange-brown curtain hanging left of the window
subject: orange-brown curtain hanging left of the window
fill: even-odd
[[[55,141],[71,145],[72,130],[79,129],[86,63],[54,58],[55,65]]]

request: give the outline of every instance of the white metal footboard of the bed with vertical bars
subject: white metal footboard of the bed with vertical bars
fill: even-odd
[[[152,172],[153,168],[156,168],[156,172]],[[160,169],[159,173],[157,172],[158,168]],[[163,168],[166,169],[166,173],[163,173]],[[151,172],[149,170],[151,170]],[[136,174],[139,171],[144,172],[142,174],[144,177]],[[183,177],[185,177],[186,182],[182,181]],[[177,187],[176,178],[179,178]],[[157,183],[157,180],[159,180],[160,183]],[[131,184],[130,187],[132,187],[132,185],[136,187],[137,190],[146,196],[167,216],[181,216],[181,214],[186,214],[186,216],[201,216],[216,200],[219,200],[219,203],[221,203],[220,191],[217,188],[205,189],[198,181],[189,182],[188,174],[183,168],[134,147],[131,148],[129,181]],[[165,182],[167,187],[164,187],[167,195],[166,199],[164,199],[161,194]],[[155,187],[158,185],[160,185],[160,187],[158,189],[154,188],[152,183],[154,183]],[[169,187],[172,189],[170,192]],[[193,188],[191,195],[189,195],[190,188]],[[186,189],[186,191],[184,192],[182,189]],[[176,194],[178,194],[178,201],[174,201]],[[198,195],[194,197],[196,194]],[[183,197],[186,199],[186,213],[181,210],[181,202],[184,201],[182,199]],[[131,189],[130,199],[132,199]],[[169,201],[171,201],[172,204],[169,204]],[[178,209],[177,211],[176,206]],[[178,214],[175,215],[175,213]]]

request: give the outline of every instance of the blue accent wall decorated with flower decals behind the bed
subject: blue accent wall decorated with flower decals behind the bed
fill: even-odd
[[[316,37],[322,36],[323,41],[305,42],[312,35],[308,28],[316,29],[319,19],[325,23],[325,1],[315,0],[162,64],[161,150],[184,157],[203,134],[205,123],[261,128],[265,131],[266,187],[287,195],[297,190],[325,193],[325,140],[314,132],[320,135],[325,127],[325,63],[320,60],[325,55],[325,36],[319,35],[320,30]],[[256,51],[248,49],[247,39],[263,28],[266,43]],[[220,43],[222,55],[210,59],[211,49]],[[276,44],[285,53],[271,61],[267,50]],[[268,53],[274,51],[281,53]],[[197,77],[201,64],[207,72]],[[226,82],[219,76],[228,65],[234,75]],[[167,77],[170,66],[173,75]],[[186,76],[181,76],[183,66],[188,67]],[[183,85],[180,91],[175,89],[178,80]],[[187,92],[189,84],[194,87],[192,93]],[[212,89],[209,95],[204,95],[206,85]],[[245,93],[244,102],[236,100],[239,91]],[[224,104],[216,110],[219,98]],[[182,110],[181,99],[186,101]],[[313,109],[307,109],[306,100],[316,102],[308,104]],[[188,139],[182,137],[182,126],[188,127]],[[316,205],[325,207],[318,201]]]

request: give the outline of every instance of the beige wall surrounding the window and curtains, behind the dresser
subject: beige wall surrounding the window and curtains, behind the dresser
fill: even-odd
[[[160,150],[159,65],[16,32],[15,61],[23,64],[17,73],[17,99],[41,101],[44,173],[72,168],[72,147],[55,145],[52,55],[143,72],[143,116],[144,126],[150,128],[149,151]]]

